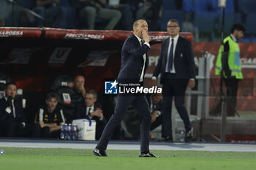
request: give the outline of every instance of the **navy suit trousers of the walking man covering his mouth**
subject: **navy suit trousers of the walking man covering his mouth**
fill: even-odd
[[[110,117],[102,136],[99,139],[97,148],[106,150],[108,142],[116,125],[121,123],[124,114],[127,112],[129,105],[132,104],[140,116],[140,151],[149,151],[149,129],[151,125],[151,114],[148,107],[148,101],[144,95],[139,94],[118,94],[114,114]]]

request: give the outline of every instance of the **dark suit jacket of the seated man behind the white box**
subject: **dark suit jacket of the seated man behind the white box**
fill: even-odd
[[[94,110],[97,108],[102,109],[102,105],[99,104],[98,102],[95,102]],[[86,115],[86,109],[87,109],[87,107],[86,107],[86,104],[84,101],[81,101],[78,104],[75,104],[75,117],[74,118],[75,119],[89,119],[89,117]],[[107,120],[105,119],[105,117],[103,118],[103,120],[99,120],[99,117],[97,117],[97,116],[94,116],[91,119],[95,120],[97,122],[97,125],[101,124],[101,123],[103,123],[103,124],[107,123]]]

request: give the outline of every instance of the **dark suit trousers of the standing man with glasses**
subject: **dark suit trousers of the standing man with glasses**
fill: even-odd
[[[186,131],[190,131],[192,125],[187,109],[184,106],[185,92],[188,79],[178,78],[176,74],[165,73],[163,81],[163,112],[162,112],[162,136],[172,138],[171,110],[174,96],[175,107],[184,122]]]

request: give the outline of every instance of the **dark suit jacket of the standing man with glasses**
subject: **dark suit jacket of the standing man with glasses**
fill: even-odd
[[[169,47],[170,38],[167,38],[162,42],[162,50],[159,56],[157,67],[154,70],[154,77],[158,77],[161,74],[161,84],[165,74],[165,66],[167,63],[167,53]],[[176,76],[179,78],[195,78],[195,62],[192,51],[192,45],[188,39],[178,36],[178,42],[174,54],[174,67]]]

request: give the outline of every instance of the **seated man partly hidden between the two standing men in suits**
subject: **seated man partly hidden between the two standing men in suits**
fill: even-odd
[[[152,131],[159,125],[162,125],[162,93],[148,94],[146,98],[152,116],[150,127],[150,131]],[[154,136],[150,135],[150,138],[154,139]]]

